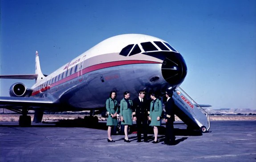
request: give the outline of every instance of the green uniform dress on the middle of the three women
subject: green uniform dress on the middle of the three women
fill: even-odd
[[[126,100],[129,102],[129,105]],[[132,101],[129,99],[126,100],[123,98],[120,101],[120,117],[123,117],[124,120],[121,124],[132,126]]]

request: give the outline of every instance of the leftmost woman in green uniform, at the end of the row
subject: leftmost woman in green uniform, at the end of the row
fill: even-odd
[[[106,109],[109,112],[107,120],[108,126],[108,142],[114,142],[111,138],[111,128],[118,125],[117,113],[118,113],[118,101],[115,100],[117,97],[116,91],[110,92],[110,98],[106,101]]]

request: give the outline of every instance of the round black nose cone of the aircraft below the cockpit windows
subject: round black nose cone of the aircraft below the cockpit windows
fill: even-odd
[[[162,75],[171,86],[181,84],[187,75],[187,65],[179,53],[168,55],[162,64]]]

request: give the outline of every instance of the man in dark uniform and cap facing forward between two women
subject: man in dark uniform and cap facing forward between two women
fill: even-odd
[[[145,90],[139,91],[139,96],[133,100],[133,119],[137,125],[137,142],[141,142],[141,133],[143,132],[144,142],[147,140],[147,121],[149,116],[148,101],[145,97]]]

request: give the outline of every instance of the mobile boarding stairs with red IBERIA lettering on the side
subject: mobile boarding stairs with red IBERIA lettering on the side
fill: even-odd
[[[205,133],[210,129],[210,115],[183,89],[178,87],[172,98],[175,102],[175,115],[187,125],[188,130],[201,130]]]

